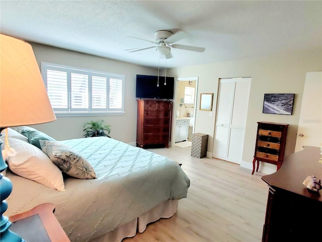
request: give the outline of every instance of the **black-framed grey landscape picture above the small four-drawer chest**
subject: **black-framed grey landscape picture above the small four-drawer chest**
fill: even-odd
[[[263,113],[292,115],[295,94],[264,94]]]

